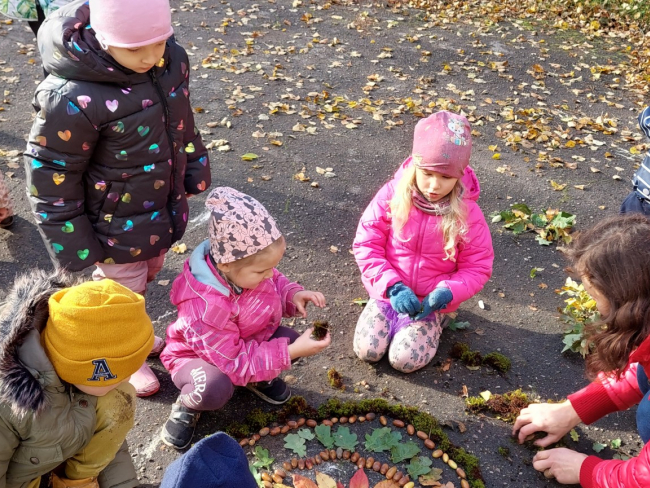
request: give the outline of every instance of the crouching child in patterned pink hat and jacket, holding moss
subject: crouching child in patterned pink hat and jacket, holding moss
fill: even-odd
[[[162,440],[177,449],[192,441],[202,410],[222,408],[235,386],[276,405],[291,396],[278,375],[291,361],[317,354],[330,343],[280,325],[306,317],[322,293],[290,282],[275,267],[284,237],[260,202],[232,188],[208,195],[210,239],[198,246],[172,286],[178,318],[167,328],[160,360],[181,391]]]

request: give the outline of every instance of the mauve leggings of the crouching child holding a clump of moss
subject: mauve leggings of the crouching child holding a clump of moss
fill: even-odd
[[[278,337],[288,337],[289,343],[292,343],[300,334],[281,325],[271,339]],[[192,359],[181,366],[172,380],[181,390],[181,403],[193,410],[219,410],[235,391],[227,375],[215,365],[200,358]]]

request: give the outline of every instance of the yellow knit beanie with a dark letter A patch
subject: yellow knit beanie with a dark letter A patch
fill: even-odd
[[[144,298],[113,280],[65,288],[50,297],[49,310],[41,343],[59,378],[70,384],[124,381],[153,347]]]

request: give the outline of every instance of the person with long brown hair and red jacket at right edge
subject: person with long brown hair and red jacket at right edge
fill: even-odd
[[[580,233],[566,250],[571,269],[596,301],[600,321],[590,327],[594,348],[587,373],[595,380],[563,403],[532,404],[513,427],[519,442],[535,432],[547,447],[576,425],[638,405],[645,444],[637,457],[603,460],[570,449],[538,452],[533,466],[547,478],[585,488],[650,486],[650,221],[642,214],[610,217]],[[603,327],[605,326],[605,327]]]

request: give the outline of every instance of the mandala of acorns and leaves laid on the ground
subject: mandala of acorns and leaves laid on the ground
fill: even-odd
[[[406,409],[411,414],[417,411]],[[438,438],[437,422],[428,417],[436,427],[433,437]],[[469,479],[431,434],[368,412],[320,423],[299,417],[262,427],[241,439],[240,445],[251,448],[251,472],[264,488],[482,488],[478,467],[473,467],[476,479]],[[441,440],[450,445],[446,436]]]

